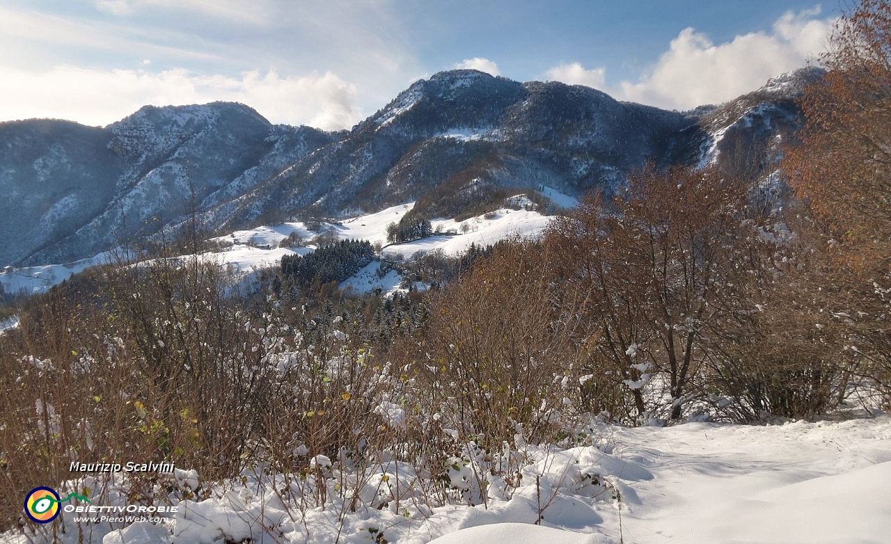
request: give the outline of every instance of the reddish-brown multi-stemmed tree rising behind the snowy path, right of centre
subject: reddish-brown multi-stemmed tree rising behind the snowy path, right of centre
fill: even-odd
[[[745,199],[715,170],[647,167],[611,204],[589,199],[548,235],[574,256],[558,273],[586,318],[576,331],[610,361],[638,417],[648,411],[642,389],[662,377],[668,416],[681,418],[706,368],[709,329],[740,304]]]

